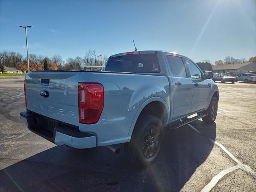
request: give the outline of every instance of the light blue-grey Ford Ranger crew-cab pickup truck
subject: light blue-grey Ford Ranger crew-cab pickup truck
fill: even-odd
[[[147,166],[160,153],[165,127],[214,122],[219,91],[212,78],[191,59],[166,51],[116,54],[101,72],[28,72],[20,118],[56,145],[118,153],[116,144],[124,143],[128,159]]]

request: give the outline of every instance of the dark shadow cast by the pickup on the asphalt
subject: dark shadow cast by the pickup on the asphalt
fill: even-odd
[[[194,122],[212,140],[216,124]],[[1,170],[3,191],[180,191],[210,154],[213,143],[189,126],[165,131],[158,161],[148,168],[106,147],[56,146]],[[122,145],[121,145],[122,146]],[[121,148],[122,150],[122,148]]]

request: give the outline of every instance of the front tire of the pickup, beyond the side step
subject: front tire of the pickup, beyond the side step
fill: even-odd
[[[206,123],[213,123],[216,120],[218,112],[218,99],[216,97],[212,97],[210,105],[205,112],[207,116],[203,117],[202,120]]]

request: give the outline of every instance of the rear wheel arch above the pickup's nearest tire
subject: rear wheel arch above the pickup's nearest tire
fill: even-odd
[[[160,97],[152,97],[149,98],[148,100],[146,100],[138,109],[138,111],[136,112],[133,120],[132,120],[132,124],[130,126],[130,130],[128,133],[128,142],[130,142],[130,139],[132,137],[132,132],[134,130],[135,124],[140,116],[140,114],[144,114],[144,112],[146,112],[148,110],[148,108],[150,106],[155,106],[156,108],[154,108],[154,112],[159,112],[158,110],[160,110],[160,113],[158,113],[155,116],[162,116],[163,115],[163,126],[166,126],[168,124],[169,118],[170,118],[170,107],[168,106],[168,104],[165,102],[165,100],[163,98]],[[153,110],[152,110],[153,111]],[[152,114],[152,111],[147,111],[148,113],[146,114]],[[160,118],[161,120],[161,118]]]

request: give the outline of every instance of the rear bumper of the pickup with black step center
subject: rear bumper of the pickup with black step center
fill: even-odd
[[[76,127],[56,122],[51,118],[47,119],[53,123],[54,126],[52,128],[43,126],[45,125],[45,118],[32,112],[20,112],[20,119],[30,131],[56,145],[68,145],[74,148],[92,148],[97,146],[95,135],[80,132]]]

